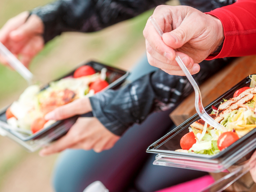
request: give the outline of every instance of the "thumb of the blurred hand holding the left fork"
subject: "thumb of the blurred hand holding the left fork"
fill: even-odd
[[[12,31],[9,37],[14,41],[20,41],[33,35],[42,34],[43,32],[44,25],[42,20],[36,15],[31,15],[27,22]]]

